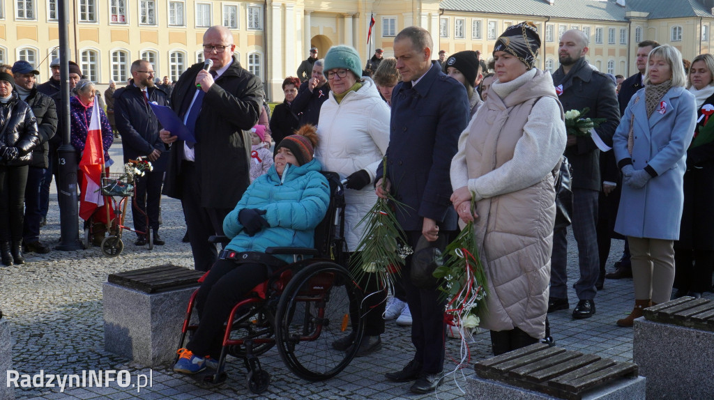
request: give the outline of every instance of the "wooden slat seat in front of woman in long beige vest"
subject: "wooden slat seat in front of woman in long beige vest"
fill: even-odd
[[[474,369],[482,379],[515,386],[516,390],[521,388],[545,395],[533,398],[552,396],[550,398],[573,400],[588,398],[586,395],[593,390],[621,382],[623,379],[633,381],[638,377],[636,364],[603,359],[560,347],[549,347],[542,343],[480,361]],[[644,387],[641,391],[644,398]],[[508,398],[508,394],[503,395]]]

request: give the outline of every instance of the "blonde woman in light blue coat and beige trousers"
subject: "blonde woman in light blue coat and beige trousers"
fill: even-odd
[[[696,121],[694,96],[685,88],[679,51],[650,51],[645,88],[630,100],[613,137],[623,173],[615,231],[628,237],[635,284],[635,309],[619,319],[632,327],[650,304],[670,299],[673,243],[679,238],[686,153]]]

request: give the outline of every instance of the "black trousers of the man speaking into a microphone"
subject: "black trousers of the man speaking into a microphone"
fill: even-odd
[[[218,260],[216,245],[209,243],[208,237],[223,235],[223,220],[231,210],[201,207],[201,182],[198,180],[193,162],[183,161],[181,180],[183,180],[181,205],[183,205],[183,215],[186,217],[193,265],[198,271],[208,271]]]

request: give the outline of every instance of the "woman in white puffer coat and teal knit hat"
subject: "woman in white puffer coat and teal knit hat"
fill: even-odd
[[[347,178],[345,190],[345,239],[352,257],[362,237],[358,223],[377,200],[371,185],[378,165],[389,143],[389,108],[382,101],[370,78],[361,78],[362,62],[350,46],[333,46],[325,56],[325,76],[330,85],[330,98],[320,110],[316,158],[323,168]],[[376,289],[374,289],[376,290]],[[366,288],[366,292],[371,292]],[[368,297],[364,319],[365,336],[357,357],[381,349],[384,332],[386,291]],[[353,324],[356,316],[352,316]],[[353,344],[354,335],[333,343],[338,350]]]

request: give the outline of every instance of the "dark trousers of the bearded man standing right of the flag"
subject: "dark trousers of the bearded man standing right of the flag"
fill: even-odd
[[[168,158],[168,154],[164,155]],[[136,178],[136,198],[131,200],[132,207],[137,207],[149,215],[149,228],[154,233],[159,231],[159,206],[161,205],[161,185],[164,183],[165,160],[156,160],[154,170],[144,176]],[[164,161],[164,162],[162,162]],[[141,212],[132,212],[134,215],[134,229],[146,232],[146,217]],[[221,224],[223,221],[221,221]],[[139,235],[139,234],[137,234]]]

